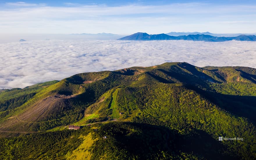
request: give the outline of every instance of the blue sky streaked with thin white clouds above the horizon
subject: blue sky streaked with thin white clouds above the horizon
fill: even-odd
[[[256,1],[0,1],[0,33],[255,33]]]

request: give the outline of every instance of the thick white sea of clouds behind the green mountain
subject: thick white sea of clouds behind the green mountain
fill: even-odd
[[[0,44],[0,54],[0,89],[165,62],[256,68],[256,42],[246,41],[44,40]]]

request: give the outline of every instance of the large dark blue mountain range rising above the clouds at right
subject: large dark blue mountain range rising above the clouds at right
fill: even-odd
[[[239,35],[236,37],[216,37],[212,35],[196,34],[196,35],[180,35],[180,36],[170,36],[167,34],[153,34],[149,35],[147,33],[134,33],[126,37],[120,38],[118,40],[193,40],[193,41],[207,41],[207,42],[224,42],[230,40],[238,41],[256,41],[255,35]]]

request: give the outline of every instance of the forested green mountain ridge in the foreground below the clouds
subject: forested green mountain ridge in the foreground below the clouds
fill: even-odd
[[[1,90],[0,159],[255,159],[255,104],[256,69],[185,62]]]

